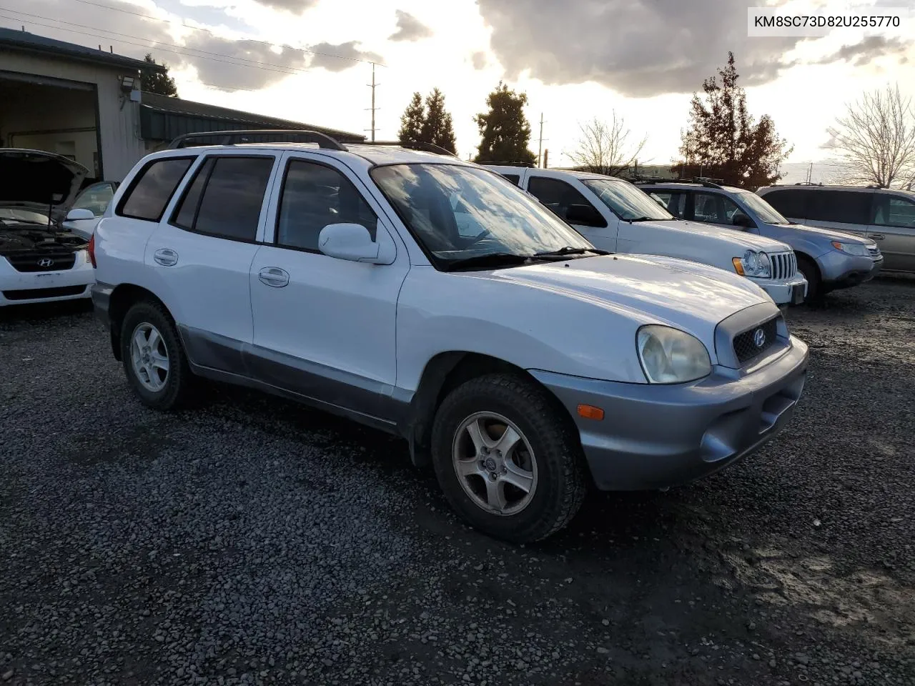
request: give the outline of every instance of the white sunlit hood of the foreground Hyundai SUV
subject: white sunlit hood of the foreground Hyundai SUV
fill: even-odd
[[[471,274],[625,309],[640,324],[681,328],[709,350],[715,349],[718,322],[771,302],[758,285],[735,273],[671,257],[606,255]]]

